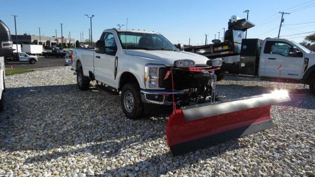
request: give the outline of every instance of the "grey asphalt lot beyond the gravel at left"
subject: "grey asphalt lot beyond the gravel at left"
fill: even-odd
[[[38,61],[35,64],[31,64],[29,62],[12,62],[9,61],[5,64],[5,68],[8,69],[11,66],[15,69],[38,69],[38,68],[49,68],[49,67],[58,67],[64,66],[65,59],[63,58],[38,58]]]

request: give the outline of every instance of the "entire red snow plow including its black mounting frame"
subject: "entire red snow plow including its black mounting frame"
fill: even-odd
[[[173,155],[217,145],[271,128],[274,126],[270,118],[271,105],[290,101],[285,90],[220,100],[215,93],[216,69],[219,67],[186,67],[170,68],[166,72],[164,80],[171,78],[173,90],[173,113],[166,125],[166,140]],[[174,94],[178,87],[174,77],[178,78],[176,77],[178,73],[183,76],[185,72],[189,77],[181,79],[191,82],[188,84],[186,97],[178,98],[178,95]]]

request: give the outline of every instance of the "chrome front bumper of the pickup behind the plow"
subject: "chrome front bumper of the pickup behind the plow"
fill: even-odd
[[[172,96],[172,91],[164,91],[164,90],[145,90],[141,89],[141,99],[144,103],[153,103],[160,105],[172,105],[173,102],[168,101],[168,96]],[[176,91],[174,90],[174,95],[178,94],[186,94],[187,90]]]

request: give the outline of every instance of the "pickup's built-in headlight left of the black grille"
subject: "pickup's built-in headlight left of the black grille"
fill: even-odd
[[[158,89],[158,70],[164,65],[147,64],[144,71],[144,85],[147,89]]]

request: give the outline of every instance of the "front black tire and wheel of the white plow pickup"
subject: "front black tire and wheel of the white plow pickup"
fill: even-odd
[[[130,101],[130,99],[132,100]],[[127,118],[139,119],[143,117],[144,107],[141,101],[140,87],[137,83],[129,83],[123,87],[121,104]]]

